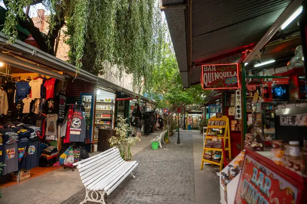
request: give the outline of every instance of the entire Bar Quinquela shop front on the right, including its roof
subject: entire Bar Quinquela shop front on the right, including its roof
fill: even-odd
[[[307,2],[162,4],[183,87],[222,94],[201,167],[220,166],[221,203],[306,203]]]

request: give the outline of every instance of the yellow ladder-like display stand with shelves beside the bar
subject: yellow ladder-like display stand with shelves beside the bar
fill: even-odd
[[[208,136],[208,132],[211,131],[212,128],[224,128],[224,136],[223,137],[218,137],[217,139],[218,140],[222,140],[222,138],[224,138],[224,147],[225,147],[225,151],[229,151],[229,158],[231,158],[231,150],[230,150],[230,129],[229,129],[229,119],[227,116],[223,116],[222,118],[216,118],[215,116],[214,117],[211,117],[209,120],[208,120],[208,124],[210,121],[225,121],[226,122],[226,125],[225,126],[210,126],[208,125],[207,126],[207,133],[206,133],[206,139],[205,139],[205,145],[207,143],[207,140],[208,139],[212,139],[211,136]],[[226,140],[228,142],[228,147],[226,148]],[[210,161],[210,160],[206,160],[204,158],[204,155],[205,155],[205,152],[206,150],[212,150],[212,151],[220,151],[222,152],[222,156],[221,156],[221,163],[217,163],[217,162],[213,162],[213,161]],[[223,169],[223,162],[224,162],[224,154],[223,154],[223,149],[222,148],[210,148],[210,147],[204,147],[204,151],[203,151],[203,158],[202,158],[202,166],[201,166],[201,170],[203,170],[203,167],[204,167],[204,162],[206,163],[210,163],[210,164],[214,164],[214,165],[218,165],[220,166],[220,171],[222,171]]]

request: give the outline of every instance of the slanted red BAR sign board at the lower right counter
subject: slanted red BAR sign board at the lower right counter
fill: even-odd
[[[283,174],[283,168],[278,165],[276,168],[273,161],[247,150],[235,203],[301,203],[302,185],[296,183],[290,174]]]

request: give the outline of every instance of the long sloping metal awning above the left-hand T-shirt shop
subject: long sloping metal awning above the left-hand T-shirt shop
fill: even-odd
[[[14,44],[7,44],[7,37],[0,32],[0,43],[4,52],[0,53],[1,61],[15,67],[52,76],[57,79],[65,79],[75,77],[75,66],[56,58],[48,53],[45,53],[29,44],[16,40]],[[65,75],[61,74],[64,73]],[[84,81],[95,83],[98,87],[108,90],[109,92],[121,92],[129,96],[137,96],[138,94],[131,92],[128,89],[120,87],[110,81],[99,78],[84,70],[80,70],[78,78]],[[155,102],[140,96],[143,101],[155,104]]]

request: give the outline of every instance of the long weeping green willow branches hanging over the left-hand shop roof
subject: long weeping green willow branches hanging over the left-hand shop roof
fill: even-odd
[[[17,17],[26,20],[23,8],[33,0],[10,1],[2,32],[10,42],[17,37]],[[52,30],[65,20],[71,49],[70,62],[93,74],[103,74],[106,65],[116,65],[118,75],[133,75],[138,93],[150,83],[162,62],[165,22],[159,0],[45,0]],[[59,14],[64,17],[59,18]],[[46,43],[50,46],[49,38]]]

